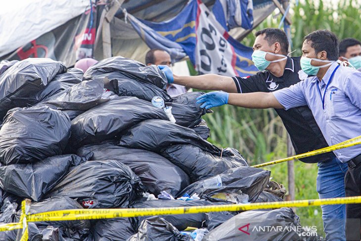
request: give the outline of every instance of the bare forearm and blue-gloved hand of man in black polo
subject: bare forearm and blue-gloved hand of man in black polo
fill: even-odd
[[[231,77],[216,74],[205,74],[199,76],[177,76],[166,65],[158,65],[168,80],[168,83],[182,85],[188,88],[199,90],[225,91],[228,93],[237,93],[237,87]]]

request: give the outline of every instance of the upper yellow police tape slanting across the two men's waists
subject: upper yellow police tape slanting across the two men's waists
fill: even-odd
[[[285,162],[285,161],[291,161],[291,160],[294,160],[294,159],[301,159],[301,158],[305,158],[305,157],[309,157],[309,156],[315,156],[315,155],[318,155],[318,154],[322,154],[322,153],[326,153],[326,152],[330,152],[330,151],[334,151],[334,150],[337,150],[337,149],[342,149],[342,148],[346,148],[346,147],[350,147],[350,146],[354,146],[354,145],[360,145],[360,144],[361,144],[361,136],[358,136],[358,137],[352,138],[350,140],[341,142],[341,143],[336,144],[336,145],[327,146],[327,147],[324,147],[324,148],[321,148],[321,149],[318,149],[318,150],[309,151],[309,152],[306,152],[306,153],[286,157],[286,158],[275,160],[275,161],[265,162],[265,163],[262,163],[262,164],[254,165],[252,167],[269,166],[269,165],[273,165],[273,164],[277,164],[277,163],[281,163],[281,162]]]

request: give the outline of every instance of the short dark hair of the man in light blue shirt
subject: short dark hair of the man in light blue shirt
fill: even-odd
[[[315,48],[315,53],[321,51],[327,52],[328,60],[338,59],[338,38],[337,36],[328,30],[317,30],[308,34],[305,41],[312,41],[311,47]]]

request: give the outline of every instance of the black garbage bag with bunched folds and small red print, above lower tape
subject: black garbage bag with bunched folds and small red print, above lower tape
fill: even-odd
[[[144,192],[129,166],[116,160],[87,161],[72,169],[47,196],[77,198],[85,207],[128,207]]]

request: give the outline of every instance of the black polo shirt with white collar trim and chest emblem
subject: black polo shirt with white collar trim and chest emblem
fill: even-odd
[[[275,77],[269,71],[259,72],[248,77],[232,77],[238,93],[273,92],[294,85],[307,78],[301,71],[301,57],[288,57],[281,77]],[[297,154],[328,146],[315,118],[308,106],[300,106],[289,110],[275,109],[290,135],[292,145]],[[300,159],[303,162],[315,163],[335,157],[333,152]]]

